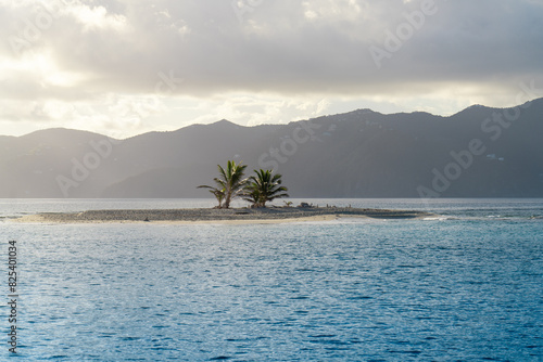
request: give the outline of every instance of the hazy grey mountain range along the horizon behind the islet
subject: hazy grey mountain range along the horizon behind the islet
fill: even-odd
[[[125,140],[70,129],[0,135],[0,197],[211,197],[197,186],[228,159],[274,168],[292,197],[543,197],[543,99],[449,117],[357,109],[288,125],[219,120]]]

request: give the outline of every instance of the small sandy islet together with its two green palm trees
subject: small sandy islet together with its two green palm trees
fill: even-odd
[[[83,212],[43,212],[25,216],[20,222],[168,222],[168,223],[273,223],[291,221],[326,221],[344,217],[378,219],[414,219],[430,217],[431,214],[409,210],[384,210],[352,207],[318,207],[301,203],[292,207],[285,202],[283,207],[266,206],[277,198],[289,197],[282,185],[282,176],[273,170],[254,170],[254,176],[244,178],[245,165],[229,160],[226,168],[217,165],[219,177],[213,179],[215,186],[207,189],[217,199],[213,208],[199,209],[135,209],[135,210],[88,210]],[[250,205],[230,208],[230,202],[240,197]]]

